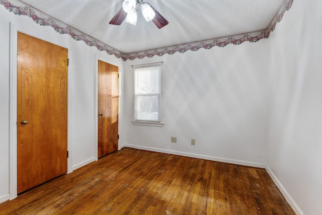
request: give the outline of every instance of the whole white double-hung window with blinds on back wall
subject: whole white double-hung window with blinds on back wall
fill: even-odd
[[[134,121],[137,125],[163,126],[162,62],[134,66]]]

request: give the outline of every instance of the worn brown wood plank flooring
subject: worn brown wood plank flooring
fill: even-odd
[[[265,169],[123,148],[0,214],[295,214]]]

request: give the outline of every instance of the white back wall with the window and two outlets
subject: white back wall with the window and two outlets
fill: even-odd
[[[125,62],[125,146],[264,167],[267,40]],[[132,125],[131,64],[164,61],[164,127]],[[177,137],[177,144],[171,143]],[[196,139],[196,145],[191,145]]]

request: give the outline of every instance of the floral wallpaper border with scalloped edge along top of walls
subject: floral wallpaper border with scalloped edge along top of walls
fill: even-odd
[[[4,5],[7,10],[19,16],[28,16],[41,26],[51,26],[60,34],[69,34],[74,40],[84,41],[88,46],[95,46],[100,51],[106,51],[110,55],[125,60],[134,60],[136,58],[142,59],[144,57],[153,57],[155,55],[162,56],[164,54],[174,54],[176,52],[185,53],[188,50],[197,51],[201,48],[210,49],[214,46],[224,47],[228,44],[239,45],[243,42],[257,42],[261,39],[268,38],[270,33],[274,31],[275,26],[279,23],[286,11],[288,11],[294,0],[284,0],[278,13],[270,23],[267,29],[262,31],[250,32],[246,34],[233,35],[228,37],[214,38],[210,40],[203,40],[193,43],[180,44],[176,46],[168,46],[164,48],[157,48],[133,53],[122,53],[119,50],[81,32],[71,26],[50,17],[43,12],[32,8],[19,0],[0,0],[0,4]]]

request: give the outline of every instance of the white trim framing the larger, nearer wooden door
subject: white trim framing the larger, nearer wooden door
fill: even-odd
[[[10,23],[10,87],[9,87],[9,193],[10,200],[17,197],[17,47],[18,31],[28,34],[32,37],[44,40],[49,43],[61,46],[67,49],[68,58],[70,58],[70,47],[50,36],[45,36],[34,31],[30,31],[22,26]],[[67,68],[67,173],[72,172],[72,73],[71,65]]]

